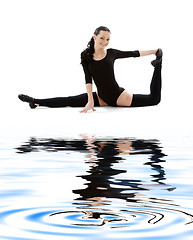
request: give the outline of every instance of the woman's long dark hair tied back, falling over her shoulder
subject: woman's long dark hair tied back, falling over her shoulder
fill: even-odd
[[[111,32],[107,27],[100,26],[94,31],[94,34],[97,36],[100,33],[100,31]],[[92,61],[93,54],[94,54],[94,38],[92,37],[87,44],[87,48],[81,53],[81,63],[85,61],[87,62]]]

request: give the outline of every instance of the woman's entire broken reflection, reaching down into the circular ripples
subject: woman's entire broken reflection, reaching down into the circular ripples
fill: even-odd
[[[113,227],[118,228],[128,226],[125,224],[128,221],[126,213],[129,213],[129,218],[139,214],[147,215],[148,223],[157,223],[164,218],[163,210],[172,210],[188,215],[192,222],[192,215],[174,209],[177,205],[172,201],[148,196],[148,191],[152,188],[158,190],[164,188],[167,191],[175,189],[165,183],[166,174],[162,163],[165,162],[166,155],[162,152],[162,147],[157,140],[95,139],[81,135],[81,140],[31,138],[29,142],[17,148],[18,153],[38,151],[78,151],[85,154],[85,163],[89,165],[86,174],[77,176],[86,180],[86,187],[73,190],[73,193],[78,194],[73,203],[77,206],[76,211],[55,212],[50,214],[52,217],[61,214],[79,214],[84,220],[83,223],[77,222],[72,225],[102,226],[116,222]],[[147,184],[145,180],[147,177],[133,179],[129,177],[127,170],[114,167],[123,162],[129,165],[130,157],[132,158],[133,155],[147,156],[144,158],[143,165],[150,166],[147,172],[151,173],[149,176],[151,184]],[[137,173],[136,175],[138,176]],[[112,199],[124,200],[128,205],[116,212],[111,207]],[[92,221],[89,221],[91,219]],[[118,222],[121,224],[117,224]]]

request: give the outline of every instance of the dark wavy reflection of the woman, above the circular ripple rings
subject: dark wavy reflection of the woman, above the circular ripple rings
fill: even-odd
[[[81,176],[88,183],[88,190],[83,191],[80,195],[83,198],[97,195],[100,189],[108,190],[108,197],[118,197],[121,195],[121,186],[128,186],[128,190],[148,190],[144,188],[141,180],[121,180],[116,179],[116,185],[119,189],[113,189],[110,184],[114,184],[114,175],[125,173],[126,170],[114,169],[113,165],[126,159],[122,157],[128,155],[146,154],[149,155],[148,161],[144,165],[149,165],[154,171],[152,181],[159,184],[165,184],[162,181],[166,180],[165,171],[160,165],[165,162],[163,159],[166,156],[162,153],[162,148],[157,140],[135,140],[135,139],[113,139],[113,140],[97,140],[83,136],[81,140],[56,140],[56,139],[36,139],[31,138],[29,142],[17,148],[18,153],[29,153],[38,151],[79,151],[86,154],[86,163],[89,163],[89,174]],[[171,190],[171,188],[168,188]],[[78,190],[81,191],[81,190]],[[77,191],[77,192],[78,192]],[[76,191],[74,191],[76,192]],[[118,196],[116,196],[118,194]],[[104,194],[105,196],[105,194]],[[126,197],[126,196],[125,196]],[[123,199],[126,199],[123,197]],[[121,197],[122,198],[122,197]]]

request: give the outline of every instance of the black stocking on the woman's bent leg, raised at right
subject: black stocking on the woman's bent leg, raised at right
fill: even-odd
[[[133,94],[133,99],[130,107],[153,106],[157,105],[161,101],[161,68],[162,64],[159,63],[154,69],[150,85],[150,94]]]

